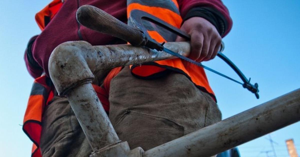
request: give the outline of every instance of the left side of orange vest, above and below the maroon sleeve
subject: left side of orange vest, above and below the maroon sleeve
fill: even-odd
[[[42,31],[61,6],[61,0],[53,0],[35,15],[35,20]],[[32,85],[22,127],[25,134],[33,142],[31,151],[32,157],[41,157],[40,139],[42,131],[42,114],[45,106],[54,96],[54,90],[52,88],[51,80],[45,75],[36,78]]]

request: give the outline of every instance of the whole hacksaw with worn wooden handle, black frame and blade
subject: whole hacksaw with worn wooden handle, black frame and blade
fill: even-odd
[[[254,93],[256,98],[259,98],[258,95],[258,84],[255,83],[252,85],[250,83],[250,79],[248,80],[244,74],[222,53],[218,53],[217,56],[220,57],[222,60],[224,60],[237,74],[238,76],[242,79],[244,83],[241,83],[237,80],[234,80],[224,74],[221,74],[211,68],[208,68],[201,63],[197,63],[193,60],[190,60],[187,57],[184,57],[182,55],[179,55],[177,53],[174,53],[171,50],[168,50],[167,48],[164,48],[164,43],[158,43],[154,39],[152,39],[146,28],[143,26],[143,21],[146,20],[149,22],[154,23],[155,25],[158,25],[162,28],[165,28],[166,30],[175,33],[178,36],[181,36],[188,41],[190,40],[190,36],[179,30],[178,28],[175,28],[166,22],[162,21],[161,19],[156,18],[155,16],[152,16],[148,13],[145,13],[140,10],[132,10],[131,11],[131,22],[135,26],[135,28],[126,25],[125,23],[119,21],[115,17],[111,16],[110,14],[106,13],[105,11],[91,6],[91,5],[83,5],[79,7],[79,9],[76,12],[76,19],[77,21],[87,27],[90,28],[94,31],[98,31],[104,34],[108,34],[111,36],[115,36],[117,38],[123,39],[127,42],[129,42],[133,46],[146,46],[151,49],[156,49],[158,51],[165,51],[169,54],[172,54],[178,58],[181,58],[183,60],[186,60],[188,62],[191,62],[193,64],[199,65],[205,69],[208,69],[216,74],[219,74],[223,77],[226,77],[229,80],[232,80],[236,83],[241,84],[244,88],[247,88],[250,92]],[[221,46],[220,51],[224,49],[224,46]]]

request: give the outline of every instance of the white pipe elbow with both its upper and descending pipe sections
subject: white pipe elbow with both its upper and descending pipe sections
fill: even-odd
[[[188,42],[165,46],[187,56]],[[49,74],[60,95],[66,95],[93,151],[126,150],[97,97],[91,80],[95,71],[174,58],[165,52],[131,45],[92,46],[85,41],[64,42],[49,58]],[[128,144],[127,144],[128,145]],[[101,149],[105,147],[106,149]],[[124,147],[124,148],[123,148]],[[124,152],[126,153],[126,151]],[[101,154],[101,153],[100,153]]]

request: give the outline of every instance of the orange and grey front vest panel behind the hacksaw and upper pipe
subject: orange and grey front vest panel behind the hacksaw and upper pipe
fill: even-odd
[[[182,23],[182,18],[180,16],[179,7],[176,0],[127,0],[128,25],[132,25],[129,15],[130,12],[135,9],[142,10],[153,16],[156,16],[157,18],[177,28],[180,28],[180,25]],[[176,39],[176,35],[165,31],[163,28],[153,26],[153,24],[150,22],[143,21],[143,25],[147,28],[147,32],[149,33],[149,35],[157,42],[170,42],[175,41]],[[163,75],[166,69],[184,74],[200,90],[207,92],[215,99],[214,93],[209,86],[204,69],[197,65],[180,59],[172,59],[157,61],[154,63],[146,63],[142,66],[131,66],[131,72],[134,76],[147,79]]]

